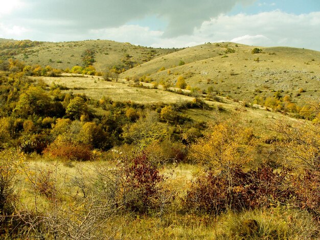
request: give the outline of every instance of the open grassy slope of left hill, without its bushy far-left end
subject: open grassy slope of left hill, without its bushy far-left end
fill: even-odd
[[[96,51],[96,63],[94,66],[98,71],[123,64],[121,60],[127,60],[126,54],[132,56],[129,60],[139,65],[144,61],[176,51],[176,49],[152,49],[151,47],[135,46],[130,43],[109,40],[86,40],[42,42],[39,46],[27,49],[28,51],[34,51],[34,53],[27,53],[27,58],[24,54],[19,54],[15,58],[23,60],[26,64],[50,65],[55,68],[65,69],[77,64],[82,65],[81,55],[87,49]],[[57,61],[62,63],[57,63]]]

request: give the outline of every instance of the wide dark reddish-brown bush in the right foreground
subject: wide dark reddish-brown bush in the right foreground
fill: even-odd
[[[227,209],[239,211],[286,203],[294,195],[286,184],[287,174],[287,170],[275,173],[268,166],[248,173],[240,166],[218,174],[207,171],[188,191],[185,207],[219,214]]]

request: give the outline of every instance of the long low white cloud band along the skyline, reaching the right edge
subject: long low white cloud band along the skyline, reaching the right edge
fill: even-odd
[[[204,42],[232,41],[257,46],[293,46],[320,51],[320,12],[294,15],[263,12],[254,15],[220,15],[194,29],[191,35],[163,37],[164,32],[147,27],[125,25],[90,30],[91,39],[112,39],[153,47],[187,47]],[[85,33],[84,33],[85,34]]]

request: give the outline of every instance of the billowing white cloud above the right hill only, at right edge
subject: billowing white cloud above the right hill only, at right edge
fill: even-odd
[[[320,51],[320,12],[288,14],[279,10],[253,15],[220,15],[194,33],[206,41],[235,41],[261,46],[307,47]],[[208,40],[211,39],[211,40]]]

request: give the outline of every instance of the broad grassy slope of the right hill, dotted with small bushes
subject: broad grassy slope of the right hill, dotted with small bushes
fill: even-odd
[[[218,92],[246,101],[252,101],[258,89],[265,95],[272,95],[270,90],[283,90],[283,94],[291,94],[296,101],[319,100],[319,52],[291,47],[262,47],[263,53],[252,54],[254,46],[235,45],[223,43],[220,46],[204,44],[190,47],[134,67],[121,77],[151,75],[155,80],[174,83],[182,75],[192,87],[207,89],[212,86]],[[235,53],[225,54],[226,46]],[[259,62],[255,61],[257,58]],[[179,60],[186,64],[174,66]],[[157,72],[163,66],[166,70]],[[170,69],[170,74],[167,69]],[[306,92],[296,98],[300,88]]]

